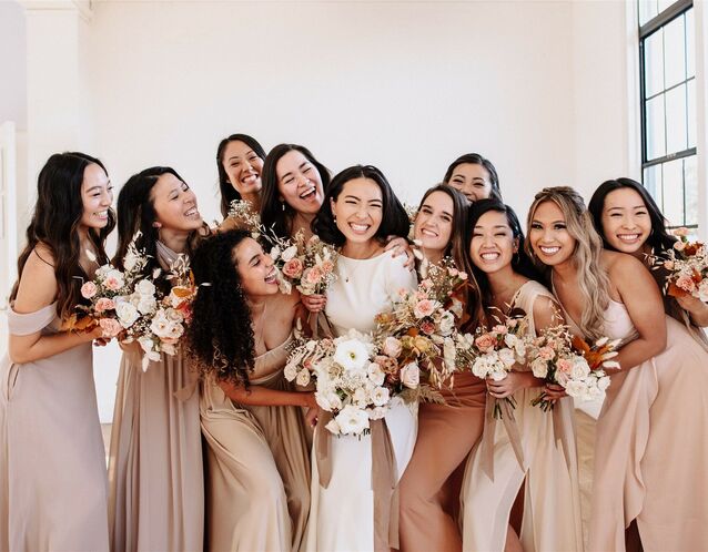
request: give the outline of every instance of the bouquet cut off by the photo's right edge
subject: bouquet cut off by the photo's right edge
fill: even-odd
[[[676,228],[674,248],[655,256],[655,268],[668,270],[666,294],[671,297],[691,295],[708,303],[708,251],[700,242],[688,241],[688,228]]]

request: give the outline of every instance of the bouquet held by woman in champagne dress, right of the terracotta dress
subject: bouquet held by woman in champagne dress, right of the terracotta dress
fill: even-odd
[[[472,374],[481,379],[502,381],[515,364],[524,364],[527,358],[526,314],[518,310],[490,329],[479,327],[474,335],[457,336],[456,350],[461,364],[471,366]],[[509,408],[516,408],[514,397],[504,399]],[[494,417],[502,418],[502,407],[494,405]]]

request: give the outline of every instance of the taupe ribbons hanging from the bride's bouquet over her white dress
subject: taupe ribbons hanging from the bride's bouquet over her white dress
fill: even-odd
[[[332,412],[323,412],[315,429],[315,454],[320,485],[327,488],[332,479],[332,433],[325,426]],[[374,550],[388,552],[398,548],[398,488],[396,458],[385,419],[371,420],[372,490],[374,491]]]

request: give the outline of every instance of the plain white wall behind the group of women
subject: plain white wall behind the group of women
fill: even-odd
[[[631,170],[625,12],[621,0],[92,2],[60,34],[78,45],[70,98],[33,88],[29,105],[39,124],[69,98],[70,134],[31,136],[31,150],[81,145],[119,186],[173,165],[210,221],[215,147],[233,132],[307,145],[334,172],[376,164],[412,203],[477,151],[525,218],[543,186],[587,196]],[[30,48],[55,40],[33,32]],[[110,420],[117,349],[95,367]]]

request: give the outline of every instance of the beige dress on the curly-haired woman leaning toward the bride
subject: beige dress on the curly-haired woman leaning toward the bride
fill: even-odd
[[[255,358],[251,385],[281,391],[289,337]],[[213,378],[201,385],[206,460],[206,545],[297,551],[310,512],[310,454],[300,407],[235,405]]]

